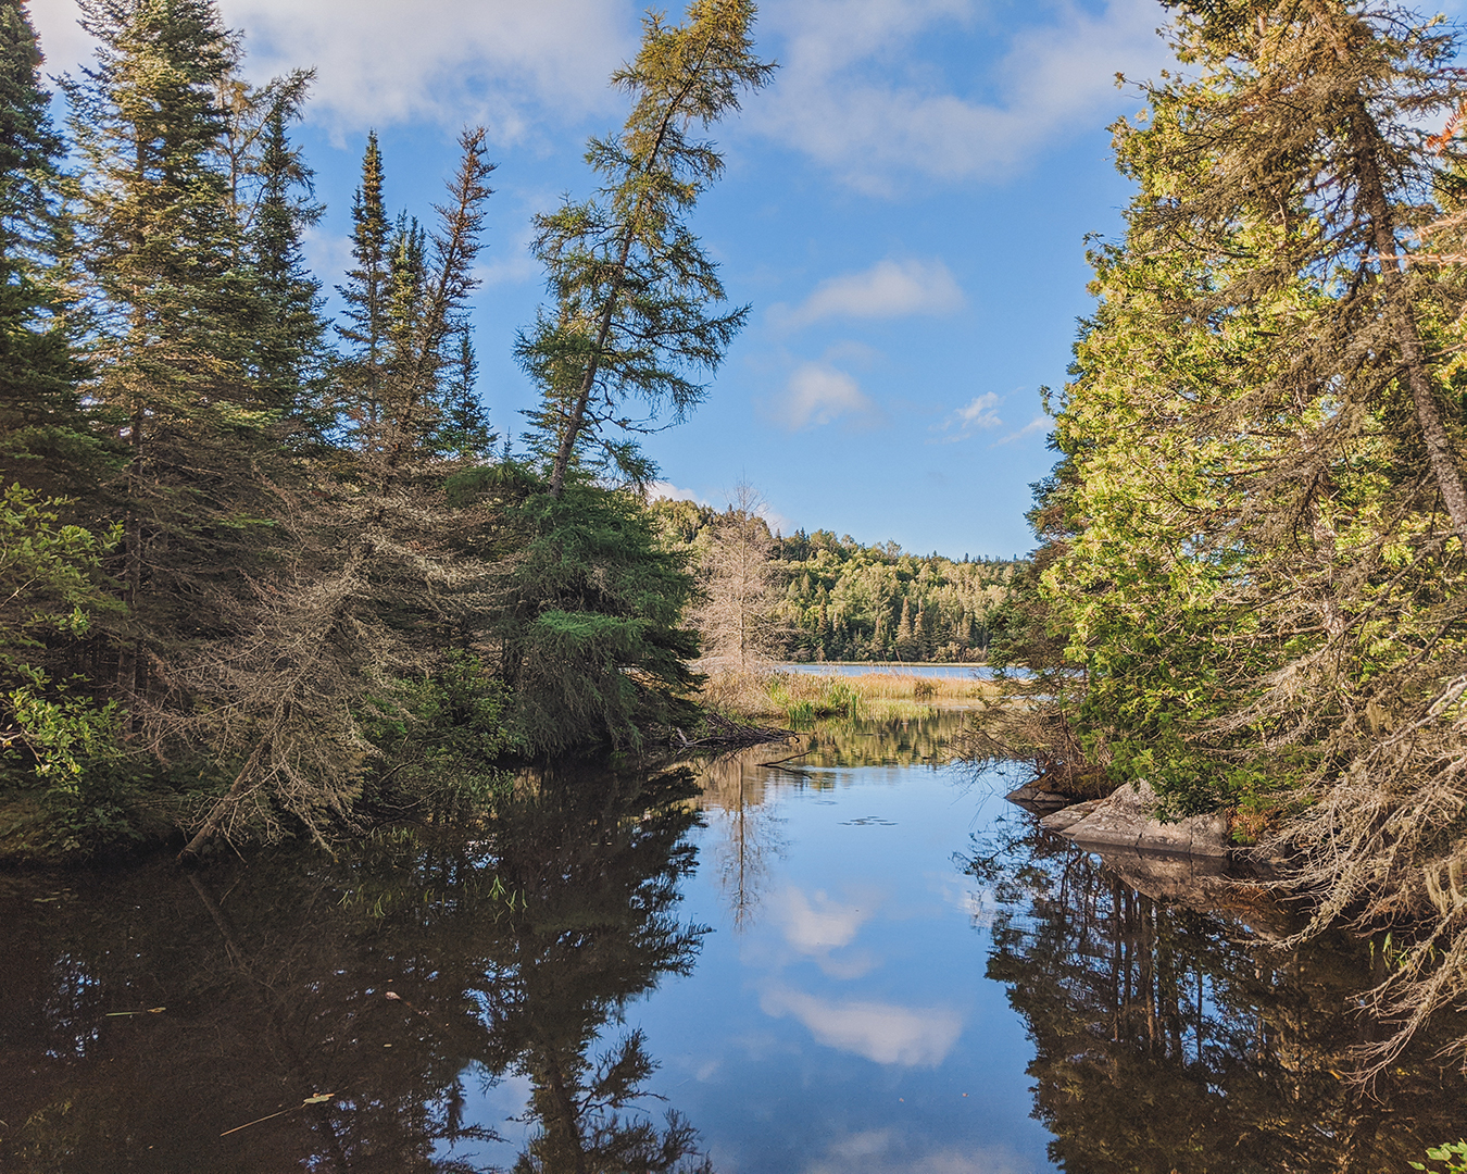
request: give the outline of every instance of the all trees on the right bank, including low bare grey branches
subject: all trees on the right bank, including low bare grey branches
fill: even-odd
[[[1394,927],[1379,1071],[1467,995],[1467,75],[1441,18],[1177,3],[1113,129],[1134,185],[1050,396],[992,731],[1149,781],[1307,898]],[[1455,1048],[1467,1046],[1458,1039]]]

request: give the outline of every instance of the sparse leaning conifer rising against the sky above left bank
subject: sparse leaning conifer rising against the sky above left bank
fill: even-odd
[[[750,0],[692,0],[681,26],[648,16],[637,60],[612,78],[632,95],[632,113],[621,135],[587,148],[604,178],[600,198],[535,219],[534,252],[555,305],[516,354],[540,387],[528,415],[552,496],[577,462],[648,480],[635,434],[659,409],[676,421],[703,399],[691,376],[719,367],[748,316],[747,307],[710,313],[723,286],[684,217],[723,170],[713,145],[688,131],[736,110],[739,92],[773,70],[754,57],[753,22]],[[634,418],[634,399],[648,418]]]

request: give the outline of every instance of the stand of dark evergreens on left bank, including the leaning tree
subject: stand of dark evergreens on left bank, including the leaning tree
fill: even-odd
[[[244,78],[213,0],[85,0],[51,117],[0,3],[0,842],[95,858],[318,842],[481,809],[502,763],[689,721],[694,578],[638,436],[747,317],[689,227],[704,132],[758,90],[753,4],[648,16],[593,194],[537,217],[518,452],[467,324],[494,170],[389,208],[368,136],[345,313],[302,260],[311,73]]]

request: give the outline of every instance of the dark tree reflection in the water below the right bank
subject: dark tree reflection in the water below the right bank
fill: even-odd
[[[1363,944],[1272,949],[1267,917],[1159,900],[1027,829],[971,870],[999,903],[987,973],[1028,1024],[1059,1168],[1375,1174],[1460,1134],[1461,1074],[1429,1042],[1369,1092],[1350,1084]]]

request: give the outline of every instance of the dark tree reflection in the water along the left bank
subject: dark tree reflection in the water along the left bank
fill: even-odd
[[[701,1168],[684,1120],[638,1106],[641,1036],[603,1039],[697,955],[691,795],[546,778],[471,844],[10,882],[0,1168],[481,1170],[468,1101],[506,1077],[530,1086],[516,1171]]]

